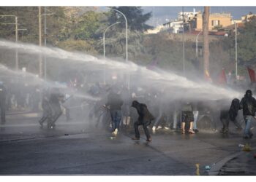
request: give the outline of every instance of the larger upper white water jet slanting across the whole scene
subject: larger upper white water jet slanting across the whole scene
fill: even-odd
[[[219,100],[224,98],[241,98],[241,93],[235,90],[217,87],[206,82],[193,82],[183,76],[178,76],[167,71],[152,71],[135,63],[122,63],[115,60],[103,60],[77,52],[67,52],[58,48],[38,47],[31,44],[15,44],[10,41],[0,41],[0,47],[4,49],[18,49],[26,54],[46,55],[48,58],[56,58],[67,62],[70,66],[84,63],[85,69],[101,68],[105,65],[108,71],[121,71],[131,76],[131,85],[140,85],[150,90],[162,90],[162,96],[167,100]],[[84,68],[84,67],[83,67]],[[99,78],[98,78],[99,79]],[[123,81],[124,82],[124,81]]]

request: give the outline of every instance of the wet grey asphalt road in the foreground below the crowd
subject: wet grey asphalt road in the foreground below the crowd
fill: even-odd
[[[255,145],[255,138],[245,141],[235,130],[157,130],[147,143],[143,130],[140,141],[132,141],[133,130],[111,138],[108,130],[64,117],[55,130],[40,129],[37,117],[8,116],[0,126],[0,175],[208,175],[206,165],[241,151],[238,144]]]

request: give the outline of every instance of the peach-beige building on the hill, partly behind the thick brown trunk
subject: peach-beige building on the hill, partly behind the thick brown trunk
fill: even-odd
[[[196,28],[195,31],[203,31],[203,16],[201,13],[195,16]],[[209,31],[217,28],[226,27],[232,24],[230,13],[213,13],[209,16]]]

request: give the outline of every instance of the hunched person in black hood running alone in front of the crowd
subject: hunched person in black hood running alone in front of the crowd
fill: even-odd
[[[143,130],[146,134],[146,141],[151,142],[152,139],[150,137],[150,134],[148,132],[148,125],[151,124],[151,121],[154,120],[154,116],[148,111],[148,108],[146,104],[139,103],[137,100],[132,101],[132,107],[136,108],[138,112],[138,121],[134,123],[135,127],[135,138],[132,138],[132,140],[140,140],[140,132],[139,132],[139,125],[143,125]]]

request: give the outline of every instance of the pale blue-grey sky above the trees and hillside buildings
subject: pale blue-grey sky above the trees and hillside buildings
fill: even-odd
[[[178,17],[178,12],[182,12],[182,7],[142,7],[144,13],[153,12],[155,17],[155,25],[160,25],[168,20],[175,20]],[[203,7],[184,7],[184,12],[195,11],[203,12]],[[240,20],[242,15],[247,15],[249,12],[256,14],[256,7],[211,7],[211,12],[226,12],[231,13],[235,20]],[[149,25],[153,25],[153,14],[151,20],[148,21]]]

